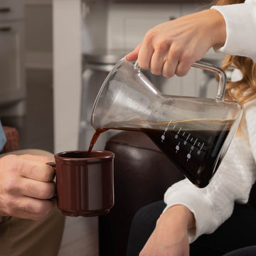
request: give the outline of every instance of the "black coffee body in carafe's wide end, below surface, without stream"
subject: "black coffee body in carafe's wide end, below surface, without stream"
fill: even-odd
[[[199,188],[207,186],[218,169],[223,159],[223,153],[218,154],[218,151],[228,136],[228,132],[229,130],[188,130],[178,134],[178,131],[168,131],[162,139],[162,131],[144,129],[144,133]]]

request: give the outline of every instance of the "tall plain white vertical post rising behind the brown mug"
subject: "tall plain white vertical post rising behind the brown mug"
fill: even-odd
[[[53,0],[55,151],[77,149],[82,76],[80,0]]]

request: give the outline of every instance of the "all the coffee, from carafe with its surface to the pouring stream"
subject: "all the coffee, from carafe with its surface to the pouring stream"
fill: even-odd
[[[233,120],[198,119],[147,125],[116,122],[111,129],[144,132],[196,186],[208,185],[225,155],[222,148]],[[129,127],[129,128],[127,128]],[[135,127],[135,125],[134,125]],[[97,129],[90,149],[106,129]],[[171,171],[171,170],[170,170]]]

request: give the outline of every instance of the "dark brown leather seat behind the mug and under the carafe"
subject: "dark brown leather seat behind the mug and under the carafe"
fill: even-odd
[[[99,218],[100,256],[124,256],[134,214],[163,199],[166,189],[183,174],[140,132],[120,132],[107,141],[105,149],[115,154],[115,198],[110,213]],[[256,202],[255,188],[250,201]]]

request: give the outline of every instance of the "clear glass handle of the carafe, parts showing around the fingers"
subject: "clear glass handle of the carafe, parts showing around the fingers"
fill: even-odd
[[[215,99],[216,100],[224,100],[223,98],[224,98],[224,94],[225,94],[225,86],[227,84],[227,76],[226,76],[224,70],[219,68],[216,65],[212,65],[210,63],[204,63],[203,61],[196,61],[195,63],[192,64],[192,67],[201,68],[203,70],[208,70],[208,71],[218,74],[220,81],[219,81],[219,85],[218,85],[217,96]],[[140,69],[138,60],[134,64],[134,68]]]

